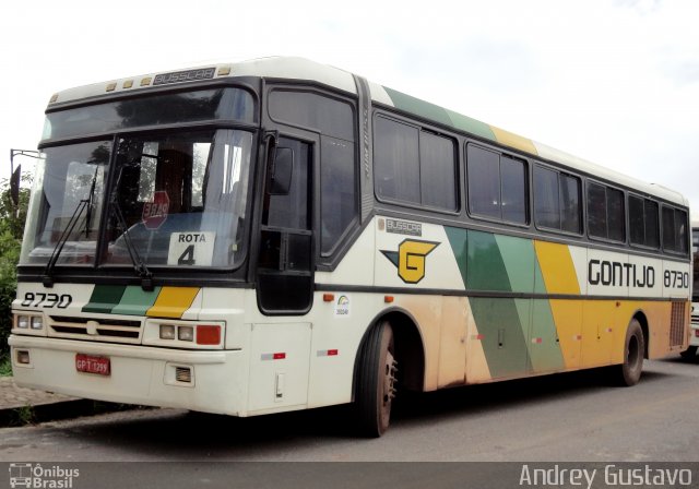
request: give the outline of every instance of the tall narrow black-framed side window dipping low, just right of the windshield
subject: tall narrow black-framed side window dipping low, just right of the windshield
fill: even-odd
[[[258,259],[258,306],[304,314],[312,302],[311,145],[280,138],[268,160]]]

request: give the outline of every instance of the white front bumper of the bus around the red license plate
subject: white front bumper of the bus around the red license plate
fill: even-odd
[[[242,350],[183,350],[11,335],[20,386],[114,403],[246,416],[247,358]],[[20,351],[28,363],[17,362]],[[108,357],[110,374],[78,371],[75,357]],[[189,381],[178,375],[189,369]],[[185,377],[187,379],[187,377]]]

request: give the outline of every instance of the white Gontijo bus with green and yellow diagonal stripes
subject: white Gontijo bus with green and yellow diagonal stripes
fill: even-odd
[[[46,109],[19,385],[238,417],[687,348],[688,201],[333,67],[263,58]],[[600,155],[604,157],[604,155]]]

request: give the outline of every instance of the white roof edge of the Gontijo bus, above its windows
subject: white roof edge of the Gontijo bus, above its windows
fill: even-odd
[[[343,92],[357,94],[354,75],[345,70],[310,61],[305,58],[270,57],[235,63],[211,63],[200,68],[165,73],[150,73],[106,83],[95,83],[92,85],[69,88],[59,92],[51,97],[49,102],[49,109],[63,103],[76,102],[109,94],[123,94],[125,92],[141,92],[142,90],[147,90],[153,86],[237,76],[261,76],[268,79],[312,81]],[[538,143],[495,126],[481,122],[476,119],[379,85],[375,82],[368,81],[367,83],[371,93],[371,99],[375,103],[394,107],[413,116],[436,122],[437,124],[469,132],[484,140],[505,145],[529,155],[537,156],[544,160],[561,164],[572,170],[589,174],[613,183],[635,189],[639,193],[655,195],[670,202],[689,206],[689,201],[679,192],[660,184],[637,180],[604,166],[596,165],[556,150],[546,144]]]

